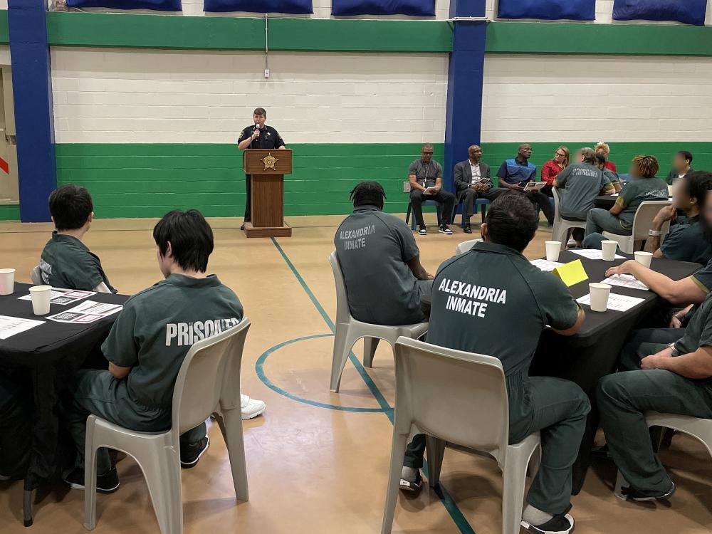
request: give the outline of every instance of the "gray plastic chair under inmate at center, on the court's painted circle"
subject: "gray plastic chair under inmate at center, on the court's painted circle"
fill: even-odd
[[[344,275],[341,272],[336,251],[329,256],[329,263],[331,263],[331,270],[334,272],[334,282],[336,284],[336,333],[334,335],[334,353],[331,362],[330,389],[338,393],[341,375],[344,372],[346,360],[355,342],[362,337],[364,338],[363,365],[364,367],[372,367],[373,355],[376,353],[379,340],[386,340],[392,347],[400,336],[421,337],[428,331],[428,323],[383,326],[355,320],[351,316],[346,283],[344,282]]]

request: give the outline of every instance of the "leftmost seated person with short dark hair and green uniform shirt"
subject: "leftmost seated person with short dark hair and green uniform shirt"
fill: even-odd
[[[58,187],[49,197],[49,211],[56,228],[42,251],[42,282],[53,288],[116,293],[99,261],[82,239],[91,228],[94,205],[83,187]]]

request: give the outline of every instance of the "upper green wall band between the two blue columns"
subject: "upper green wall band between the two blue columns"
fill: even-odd
[[[51,46],[263,50],[264,19],[218,16],[47,13]],[[445,21],[269,19],[280,51],[449,53]]]

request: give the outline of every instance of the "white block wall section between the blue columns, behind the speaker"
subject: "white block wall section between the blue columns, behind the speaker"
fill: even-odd
[[[56,141],[234,142],[252,110],[286,142],[443,142],[446,54],[53,48]]]

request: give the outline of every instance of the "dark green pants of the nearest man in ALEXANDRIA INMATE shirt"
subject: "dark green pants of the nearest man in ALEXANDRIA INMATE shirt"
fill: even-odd
[[[578,456],[591,404],[577,384],[551,377],[530,377],[528,392],[519,399],[510,392],[510,413],[528,412],[529,417],[510,417],[509,442],[516,444],[540,431],[541,466],[529,488],[527,502],[551,514],[570,508],[571,467]],[[522,406],[513,406],[514,402]],[[421,468],[425,436],[418,434],[408,445],[404,466]]]

